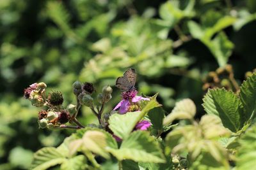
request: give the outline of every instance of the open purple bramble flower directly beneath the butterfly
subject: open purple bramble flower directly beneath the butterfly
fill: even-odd
[[[138,101],[150,101],[150,99],[145,98],[145,97],[141,97],[141,96],[136,96],[138,93],[137,90],[129,90],[129,91],[125,91],[122,92],[122,101],[120,101],[120,103],[118,103],[114,110],[117,110],[119,108],[119,113],[124,114],[127,111],[129,111],[130,106],[132,105],[132,103],[137,103]]]

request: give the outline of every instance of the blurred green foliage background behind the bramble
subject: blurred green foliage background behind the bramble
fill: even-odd
[[[0,169],[28,169],[33,152],[57,146],[72,131],[38,129],[37,113],[22,98],[31,83],[60,90],[75,104],[72,83],[114,89],[106,111],[120,100],[115,80],[138,73],[136,87],[159,92],[170,113],[189,97],[202,115],[203,78],[232,64],[235,78],[256,67],[254,0],[1,0]],[[82,108],[83,124],[97,122]]]

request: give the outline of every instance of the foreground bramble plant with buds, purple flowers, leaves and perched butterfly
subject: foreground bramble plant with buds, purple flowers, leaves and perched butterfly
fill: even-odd
[[[216,72],[220,76],[227,68],[230,66]],[[157,94],[137,96],[135,80],[134,69],[118,78],[122,101],[112,111],[104,110],[113,92],[108,85],[94,99],[92,83],[74,82],[77,103],[67,108],[62,105],[61,92],[47,95],[45,83],[25,89],[24,97],[42,107],[40,128],[77,129],[57,148],[38,150],[31,168],[60,164],[61,169],[253,169],[256,73],[239,89],[234,87],[236,93],[219,86],[209,89],[203,99],[207,114],[200,120],[195,119],[196,106],[191,99],[179,101],[165,116]],[[99,125],[82,125],[77,120],[82,105],[92,110]]]

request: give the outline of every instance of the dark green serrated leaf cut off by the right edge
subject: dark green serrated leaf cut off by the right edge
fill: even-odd
[[[248,121],[256,116],[256,73],[242,83],[239,97],[244,108],[243,118]]]

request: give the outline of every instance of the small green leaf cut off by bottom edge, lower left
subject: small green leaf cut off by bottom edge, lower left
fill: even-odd
[[[86,169],[86,157],[84,155],[77,155],[71,159],[67,159],[61,164],[61,170],[83,170]]]

